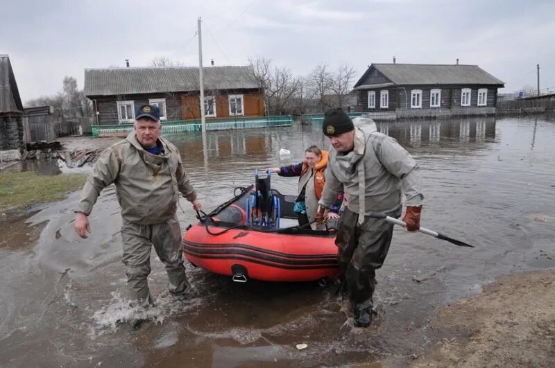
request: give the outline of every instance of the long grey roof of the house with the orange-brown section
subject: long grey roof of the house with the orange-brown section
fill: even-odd
[[[248,66],[203,68],[205,89],[257,89]],[[197,67],[85,69],[86,96],[198,91]]]

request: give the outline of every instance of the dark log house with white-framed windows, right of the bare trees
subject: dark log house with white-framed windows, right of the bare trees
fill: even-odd
[[[359,109],[395,117],[495,114],[504,82],[477,65],[371,64],[355,84]]]

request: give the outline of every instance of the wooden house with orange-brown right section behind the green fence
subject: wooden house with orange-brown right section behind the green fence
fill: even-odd
[[[264,116],[264,96],[252,69],[203,69],[207,120],[231,116]],[[85,96],[93,101],[97,125],[133,123],[135,108],[160,107],[162,121],[200,118],[196,67],[85,69]]]

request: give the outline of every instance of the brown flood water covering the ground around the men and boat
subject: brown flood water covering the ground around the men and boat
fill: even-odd
[[[139,331],[126,301],[121,218],[103,191],[86,240],[73,231],[76,193],[31,218],[0,223],[2,367],[311,367],[403,362],[434,343],[438,308],[481,291],[500,274],[555,268],[555,119],[378,123],[422,170],[422,227],[476,245],[461,248],[395,229],[377,272],[377,321],[354,328],[336,286],[233,283],[187,264],[187,301],[164,295],[153,252],[157,306]],[[205,209],[253,182],[253,170],[291,164],[311,144],[328,147],[319,125],[169,136]],[[291,157],[280,159],[280,148]],[[296,193],[294,178],[273,188]],[[183,201],[185,229],[194,212]],[[416,282],[413,279],[420,279]],[[123,324],[118,322],[123,321]],[[307,344],[298,351],[296,344]]]

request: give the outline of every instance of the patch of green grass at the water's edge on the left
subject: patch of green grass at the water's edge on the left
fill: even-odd
[[[62,200],[65,192],[82,188],[85,179],[85,174],[0,173],[0,211]]]

